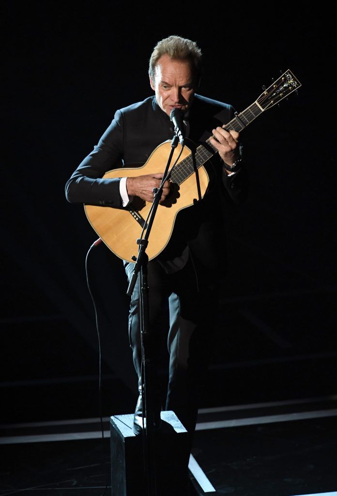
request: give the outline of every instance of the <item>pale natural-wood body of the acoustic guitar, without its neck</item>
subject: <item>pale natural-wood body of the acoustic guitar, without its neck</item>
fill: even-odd
[[[187,140],[186,140],[187,142]],[[191,148],[193,143],[189,142]],[[180,153],[180,144],[175,148],[172,166]],[[159,145],[142,167],[114,169],[107,172],[105,179],[136,177],[146,174],[165,172],[171,151],[171,140]],[[178,163],[191,156],[191,149],[186,145]],[[149,236],[146,249],[149,260],[155,258],[169,243],[173,232],[174,222],[179,210],[187,208],[200,200],[207,189],[209,177],[206,169],[201,166],[194,174],[185,179],[179,186],[172,184],[171,193],[165,202],[160,203]],[[147,220],[152,203],[135,197],[131,204],[124,209],[106,206],[84,205],[85,213],[93,229],[111,251],[119,258],[132,261],[137,256],[137,239],[140,238],[144,222]]]

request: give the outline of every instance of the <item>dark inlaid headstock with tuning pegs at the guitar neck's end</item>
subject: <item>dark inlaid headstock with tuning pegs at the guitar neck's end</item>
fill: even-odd
[[[286,98],[300,86],[302,85],[299,80],[288,69],[269,88],[261,93],[256,103],[263,110],[267,110],[279,103],[283,98]]]

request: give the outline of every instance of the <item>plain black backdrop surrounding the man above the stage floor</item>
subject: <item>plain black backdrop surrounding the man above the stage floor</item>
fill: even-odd
[[[312,9],[2,3],[4,422],[99,414],[85,270],[97,236],[83,205],[67,203],[64,185],[115,110],[152,94],[148,60],[170,34],[202,49],[200,93],[239,112],[280,71],[291,69],[302,83],[242,133],[251,193],[225,212],[219,263],[228,256],[229,270],[201,406],[336,393],[335,20],[324,4]],[[130,413],[136,376],[121,262],[104,247],[88,258],[105,309],[103,413]]]

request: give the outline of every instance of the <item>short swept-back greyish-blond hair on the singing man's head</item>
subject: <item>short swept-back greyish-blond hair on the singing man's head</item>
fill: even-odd
[[[196,82],[199,82],[202,71],[202,53],[195,41],[181,38],[180,36],[169,36],[157,43],[149,63],[149,75],[154,81],[156,65],[163,55],[168,55],[172,60],[189,61]]]

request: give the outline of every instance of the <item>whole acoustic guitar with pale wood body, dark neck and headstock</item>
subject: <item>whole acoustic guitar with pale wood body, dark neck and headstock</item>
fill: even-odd
[[[286,70],[269,88],[252,103],[246,110],[236,114],[228,124],[223,125],[227,131],[234,129],[242,131],[262,112],[278,104],[283,98],[297,90],[301,83],[290,70]],[[136,177],[165,171],[171,140],[165,141],[155,148],[147,162],[142,167],[113,169],[103,177],[105,179]],[[177,160],[181,146],[175,148],[171,164]],[[204,168],[205,162],[215,155],[218,150],[212,146],[209,139],[205,144],[196,146],[193,152],[184,146],[177,164],[172,169],[169,181],[171,193],[163,203],[160,203],[149,236],[146,249],[149,260],[163,251],[169,243],[175,218],[179,210],[187,208],[199,201],[205,194],[209,177]],[[146,228],[147,217],[152,203],[134,197],[124,209],[106,206],[84,205],[86,216],[100,239],[119,258],[134,261],[138,253],[137,239]]]

